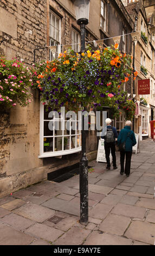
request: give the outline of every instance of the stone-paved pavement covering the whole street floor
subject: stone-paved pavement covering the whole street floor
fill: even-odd
[[[79,175],[0,199],[0,245],[154,245],[155,143],[140,142],[131,175],[89,162],[89,220],[81,225]]]

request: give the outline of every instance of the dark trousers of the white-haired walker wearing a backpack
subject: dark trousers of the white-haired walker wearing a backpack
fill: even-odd
[[[112,154],[113,157],[113,166],[116,166],[116,155],[115,155],[115,143],[105,143],[105,154],[106,154],[106,161],[107,166],[111,166],[109,155]]]

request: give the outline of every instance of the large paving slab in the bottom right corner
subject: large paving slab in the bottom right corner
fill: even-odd
[[[133,221],[127,229],[125,236],[139,242],[154,245],[155,224],[141,221]]]

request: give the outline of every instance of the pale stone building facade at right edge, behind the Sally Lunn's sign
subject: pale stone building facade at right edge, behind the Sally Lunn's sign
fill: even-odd
[[[138,71],[135,80],[135,104],[137,110],[134,118],[134,131],[139,133],[140,140],[151,136],[150,120],[154,120],[155,106],[155,41],[150,32],[154,26],[154,7],[152,1],[134,1],[126,5],[128,14],[135,22],[135,31],[139,32],[139,39],[135,45],[135,70]],[[137,19],[137,21],[136,21]],[[150,94],[138,94],[138,80],[150,79]],[[145,102],[146,101],[146,102]]]

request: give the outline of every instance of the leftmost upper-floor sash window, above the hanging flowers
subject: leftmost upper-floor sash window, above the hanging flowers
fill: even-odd
[[[53,11],[49,13],[49,45],[56,45],[56,54],[55,58],[58,57],[58,54],[61,51],[61,19]],[[50,51],[50,60],[54,59],[52,52]]]

